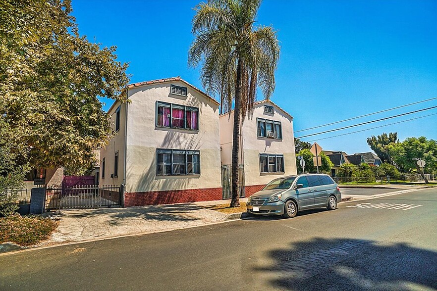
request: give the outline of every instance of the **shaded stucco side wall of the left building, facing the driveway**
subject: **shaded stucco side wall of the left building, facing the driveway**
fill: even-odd
[[[112,128],[115,130],[115,111],[120,105],[120,102],[116,102],[111,106],[108,114],[112,124]],[[101,185],[121,185],[123,184],[124,173],[124,133],[125,133],[125,118],[126,118],[126,104],[120,106],[120,130],[109,141],[109,144],[100,149],[100,184]],[[114,157],[115,152],[118,151],[118,176],[111,178],[111,174],[114,173]],[[102,161],[105,158],[105,178],[102,178],[103,165]]]

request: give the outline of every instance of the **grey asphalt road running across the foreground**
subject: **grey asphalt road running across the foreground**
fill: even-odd
[[[437,189],[0,255],[0,290],[436,290]]]

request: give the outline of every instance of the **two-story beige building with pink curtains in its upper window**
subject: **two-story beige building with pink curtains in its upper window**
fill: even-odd
[[[124,206],[221,199],[219,103],[180,77],[130,84],[108,113],[118,133],[101,149],[103,185]]]

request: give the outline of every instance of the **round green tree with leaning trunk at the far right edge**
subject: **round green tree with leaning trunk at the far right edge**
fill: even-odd
[[[425,160],[425,172],[433,173],[437,169],[437,142],[426,137],[407,138],[402,143],[388,145],[388,153],[393,161],[406,171],[416,169],[428,183],[422,169],[417,165],[416,158]]]

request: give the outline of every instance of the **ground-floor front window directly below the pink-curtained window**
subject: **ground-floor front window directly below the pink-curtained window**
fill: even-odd
[[[199,175],[200,151],[157,149],[156,173],[163,175]]]

